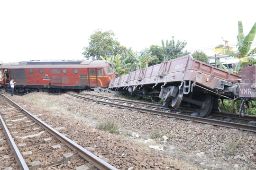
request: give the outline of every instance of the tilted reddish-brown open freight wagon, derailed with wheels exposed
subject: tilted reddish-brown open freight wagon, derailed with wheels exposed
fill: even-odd
[[[246,72],[242,72],[242,78],[247,77]],[[197,107],[201,117],[205,117],[211,113],[214,105],[219,105],[217,99],[256,99],[255,96],[251,98],[252,94],[241,96],[246,89],[242,92],[240,88],[239,91],[239,85],[245,85],[241,76],[186,55],[114,78],[110,81],[109,88],[150,96],[155,101],[162,99],[165,106],[171,104],[174,108],[181,105]],[[248,93],[252,92],[256,94],[256,87]],[[240,108],[240,112],[241,110],[244,110],[244,106]]]

